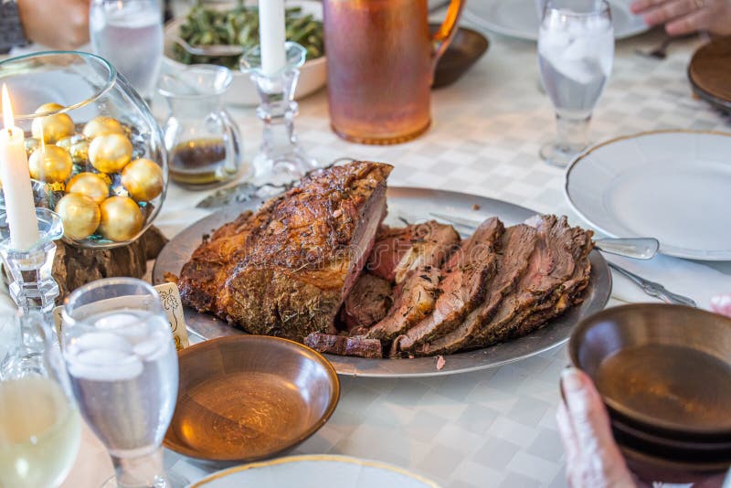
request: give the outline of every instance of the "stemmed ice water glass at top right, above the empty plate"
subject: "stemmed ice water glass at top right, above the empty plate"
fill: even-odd
[[[549,0],[538,33],[538,64],[556,109],[556,140],[541,147],[547,163],[566,166],[588,145],[591,112],[609,79],[614,29],[604,0]]]

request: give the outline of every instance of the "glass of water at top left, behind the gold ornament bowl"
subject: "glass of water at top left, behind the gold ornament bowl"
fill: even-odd
[[[89,30],[94,54],[149,101],[163,59],[160,0],[91,0]]]

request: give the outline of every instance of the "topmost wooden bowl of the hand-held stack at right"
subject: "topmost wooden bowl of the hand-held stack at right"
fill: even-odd
[[[731,319],[637,303],[579,324],[568,351],[613,419],[671,439],[731,440]]]

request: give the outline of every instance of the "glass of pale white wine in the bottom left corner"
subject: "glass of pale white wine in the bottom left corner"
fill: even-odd
[[[79,451],[79,410],[44,316],[15,322],[20,334],[0,381],[0,486],[59,486]]]

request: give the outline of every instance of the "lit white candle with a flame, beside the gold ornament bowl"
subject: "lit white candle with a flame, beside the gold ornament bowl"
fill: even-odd
[[[10,244],[16,250],[28,250],[38,241],[38,221],[30,186],[25,134],[15,126],[13,108],[3,85],[3,122],[0,131],[0,179],[3,180],[5,213],[10,227]]]

